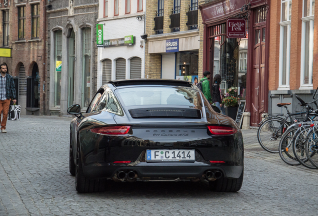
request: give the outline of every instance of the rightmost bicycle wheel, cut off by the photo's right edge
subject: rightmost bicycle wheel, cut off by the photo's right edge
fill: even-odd
[[[305,152],[308,160],[318,168],[318,131],[311,129],[306,137]]]

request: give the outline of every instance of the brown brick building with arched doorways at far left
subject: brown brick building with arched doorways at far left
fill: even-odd
[[[11,48],[6,62],[15,79],[17,104],[21,114],[45,113],[45,1],[0,0],[0,45]]]

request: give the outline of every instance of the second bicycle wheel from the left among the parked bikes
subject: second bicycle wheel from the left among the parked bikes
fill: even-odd
[[[300,162],[296,159],[292,152],[292,141],[294,138],[294,134],[298,126],[290,127],[287,129],[280,139],[278,145],[278,153],[280,158],[289,165],[300,165]]]

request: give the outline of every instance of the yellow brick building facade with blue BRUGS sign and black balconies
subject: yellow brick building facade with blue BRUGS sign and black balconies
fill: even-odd
[[[197,7],[197,0],[146,1],[145,78],[194,82],[202,77],[202,18]]]

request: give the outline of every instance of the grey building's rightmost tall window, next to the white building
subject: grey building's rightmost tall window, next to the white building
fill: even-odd
[[[82,71],[82,106],[89,105],[90,93],[90,43],[91,43],[91,28],[86,27],[82,30],[82,53],[83,53],[83,71]]]

